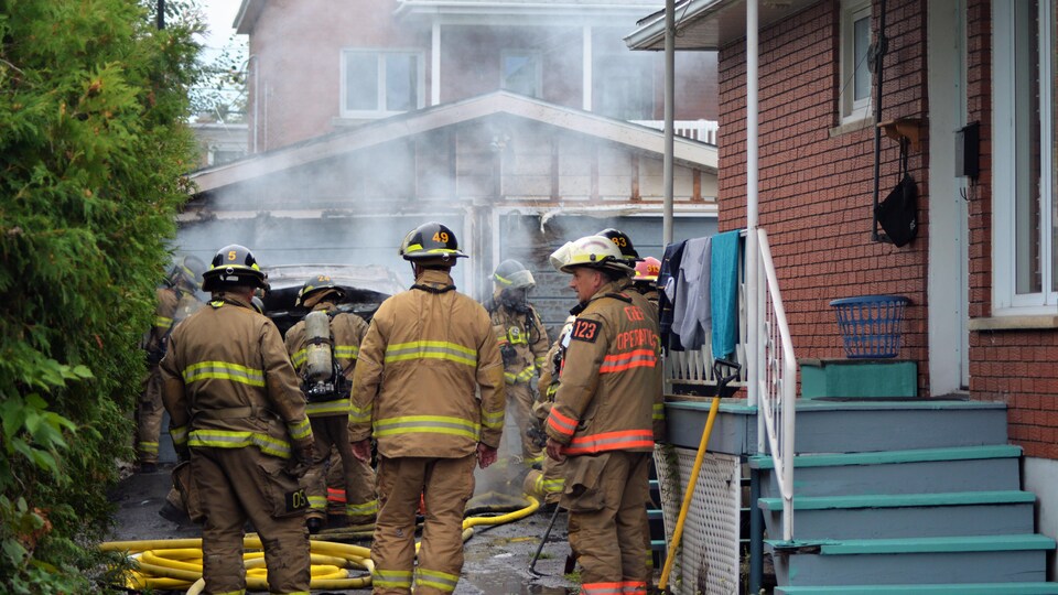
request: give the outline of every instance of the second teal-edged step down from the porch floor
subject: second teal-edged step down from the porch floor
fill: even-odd
[[[768,534],[781,534],[782,500],[760,498]],[[794,498],[801,541],[1027,534],[1036,496],[1028,491],[961,491]]]

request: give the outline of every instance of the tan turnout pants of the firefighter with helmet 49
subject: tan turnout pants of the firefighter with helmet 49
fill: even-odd
[[[375,595],[441,595],[455,591],[463,570],[463,512],[474,494],[474,455],[461,458],[378,457],[381,508],[371,558]],[[415,508],[425,522],[415,560]],[[414,572],[412,572],[414,569]]]

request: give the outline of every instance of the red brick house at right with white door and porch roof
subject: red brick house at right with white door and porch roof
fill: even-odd
[[[676,10],[677,50],[720,52],[722,229],[746,226],[748,1]],[[878,94],[867,63],[883,18]],[[788,0],[762,2],[758,23],[759,224],[798,357],[842,357],[831,300],[910,298],[902,357],[918,363],[919,396],[1007,405],[1024,489],[1038,496],[1039,531],[1054,537],[1058,2]],[[656,15],[626,41],[659,50],[662,36]],[[888,122],[877,158],[876,121]],[[897,248],[879,240],[873,205],[875,160],[884,198],[898,181],[900,138],[919,228]]]

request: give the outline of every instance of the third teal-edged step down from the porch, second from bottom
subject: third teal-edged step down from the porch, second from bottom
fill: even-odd
[[[1043,583],[1055,541],[1040,534],[766,540],[776,581],[789,586]]]

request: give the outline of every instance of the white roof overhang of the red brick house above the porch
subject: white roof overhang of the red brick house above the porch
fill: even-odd
[[[757,1],[757,0],[749,0]],[[760,0],[760,29],[775,24],[821,0]],[[676,3],[676,48],[720,50],[746,36],[747,0],[683,0]],[[631,50],[665,50],[665,11],[639,21],[625,37]]]

